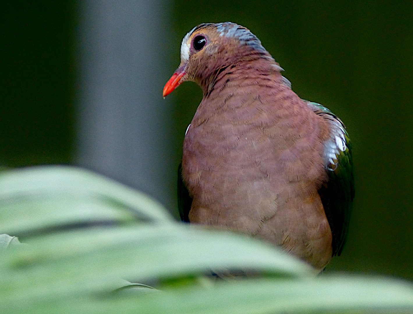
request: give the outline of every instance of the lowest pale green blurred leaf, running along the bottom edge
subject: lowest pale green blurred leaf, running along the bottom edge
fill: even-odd
[[[16,314],[410,313],[413,290],[410,284],[383,278],[242,280],[126,297],[39,300],[3,309]]]

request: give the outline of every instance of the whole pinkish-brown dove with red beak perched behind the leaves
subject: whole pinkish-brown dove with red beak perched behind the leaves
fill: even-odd
[[[342,121],[281,71],[238,24],[185,35],[163,97],[193,81],[203,98],[185,133],[178,208],[183,222],[261,238],[321,271],[347,238],[352,147]]]

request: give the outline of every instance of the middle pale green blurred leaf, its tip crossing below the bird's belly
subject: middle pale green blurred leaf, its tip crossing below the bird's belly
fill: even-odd
[[[91,229],[31,238],[0,260],[0,299],[22,302],[119,288],[119,279],[254,269],[279,276],[313,276],[304,262],[255,239],[172,226]]]

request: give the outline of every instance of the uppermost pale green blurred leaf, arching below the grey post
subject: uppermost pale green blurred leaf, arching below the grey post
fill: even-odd
[[[0,233],[25,235],[70,224],[173,219],[158,202],[88,170],[42,166],[0,173]]]

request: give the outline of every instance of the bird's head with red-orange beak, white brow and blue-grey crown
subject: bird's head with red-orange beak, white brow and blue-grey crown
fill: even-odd
[[[257,58],[275,63],[249,29],[231,22],[200,24],[183,38],[180,65],[165,84],[163,96],[185,81],[208,86],[228,66]]]

